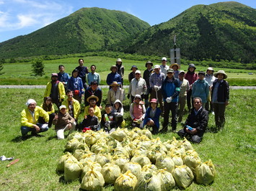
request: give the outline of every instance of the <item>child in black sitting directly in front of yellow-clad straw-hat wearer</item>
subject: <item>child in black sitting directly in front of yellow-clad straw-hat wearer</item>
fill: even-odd
[[[94,115],[94,107],[89,107],[89,115],[84,116],[84,120],[81,122],[81,129],[83,132],[87,130],[99,131],[100,124],[97,116]]]

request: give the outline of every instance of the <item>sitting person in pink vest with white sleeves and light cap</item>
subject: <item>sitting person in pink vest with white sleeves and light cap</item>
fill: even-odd
[[[133,119],[131,125],[143,129],[145,113],[146,108],[144,102],[141,101],[141,95],[135,95],[134,101],[130,106],[130,116]]]

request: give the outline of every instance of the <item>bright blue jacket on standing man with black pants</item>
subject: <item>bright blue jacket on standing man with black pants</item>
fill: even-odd
[[[168,77],[165,78],[162,84],[163,100],[172,96],[172,102],[178,102],[180,94],[180,81],[177,78],[172,78],[172,81],[168,81]]]

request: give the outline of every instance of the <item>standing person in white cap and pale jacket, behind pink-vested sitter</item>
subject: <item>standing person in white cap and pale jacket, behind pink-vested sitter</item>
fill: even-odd
[[[144,94],[146,93],[146,81],[141,78],[141,71],[136,70],[135,72],[135,78],[131,80],[131,83],[129,85],[128,90],[128,98],[130,98],[133,101],[135,98],[135,95],[141,95],[141,98],[144,98]]]

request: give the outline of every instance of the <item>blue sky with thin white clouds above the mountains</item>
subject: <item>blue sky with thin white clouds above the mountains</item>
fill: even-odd
[[[30,34],[83,7],[125,11],[151,25],[167,22],[197,4],[218,0],[0,0],[0,42]],[[237,0],[255,9],[256,0]]]

